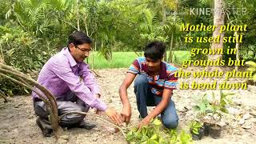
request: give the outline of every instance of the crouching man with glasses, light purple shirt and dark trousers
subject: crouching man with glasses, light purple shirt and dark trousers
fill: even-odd
[[[38,75],[38,83],[45,86],[56,97],[58,115],[70,111],[87,112],[90,107],[105,112],[115,123],[121,124],[122,118],[116,110],[106,106],[101,96],[94,75],[84,62],[89,56],[91,39],[82,31],[70,34],[68,46],[46,62]],[[46,137],[52,133],[46,104],[34,92],[34,111],[38,115],[37,124]],[[81,114],[67,114],[60,120],[65,127],[79,127],[90,130],[94,124],[84,122]]]

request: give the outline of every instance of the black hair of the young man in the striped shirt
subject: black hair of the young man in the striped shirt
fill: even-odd
[[[153,60],[158,60],[163,58],[163,54],[166,51],[166,44],[164,42],[150,42],[146,45],[144,49],[144,56]]]

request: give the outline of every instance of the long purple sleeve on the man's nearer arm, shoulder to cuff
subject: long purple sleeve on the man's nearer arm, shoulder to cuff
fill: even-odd
[[[83,102],[86,102],[86,104],[90,105],[91,107],[95,107],[96,109],[102,111],[106,110],[106,104],[94,97],[94,94],[84,84],[84,82],[80,81],[79,76],[72,73],[69,64],[66,62],[53,62],[50,65],[54,74],[66,82],[66,85],[69,86],[70,90],[72,90],[74,94],[78,96],[78,98],[80,98]]]

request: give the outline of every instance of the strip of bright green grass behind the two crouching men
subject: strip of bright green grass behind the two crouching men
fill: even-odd
[[[106,68],[128,68],[138,55],[134,52],[112,52],[112,60],[108,61],[98,52],[92,52],[89,56],[90,69],[106,69]],[[169,54],[169,53],[167,53]],[[94,58],[94,66],[92,65]],[[183,60],[190,59],[190,51],[174,51],[173,62],[181,64]]]

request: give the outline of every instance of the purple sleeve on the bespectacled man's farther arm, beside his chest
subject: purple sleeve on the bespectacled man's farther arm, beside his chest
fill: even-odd
[[[88,86],[93,94],[100,94],[98,84],[94,74],[90,73],[89,65],[82,62],[78,68],[78,74],[82,76],[83,82]]]

